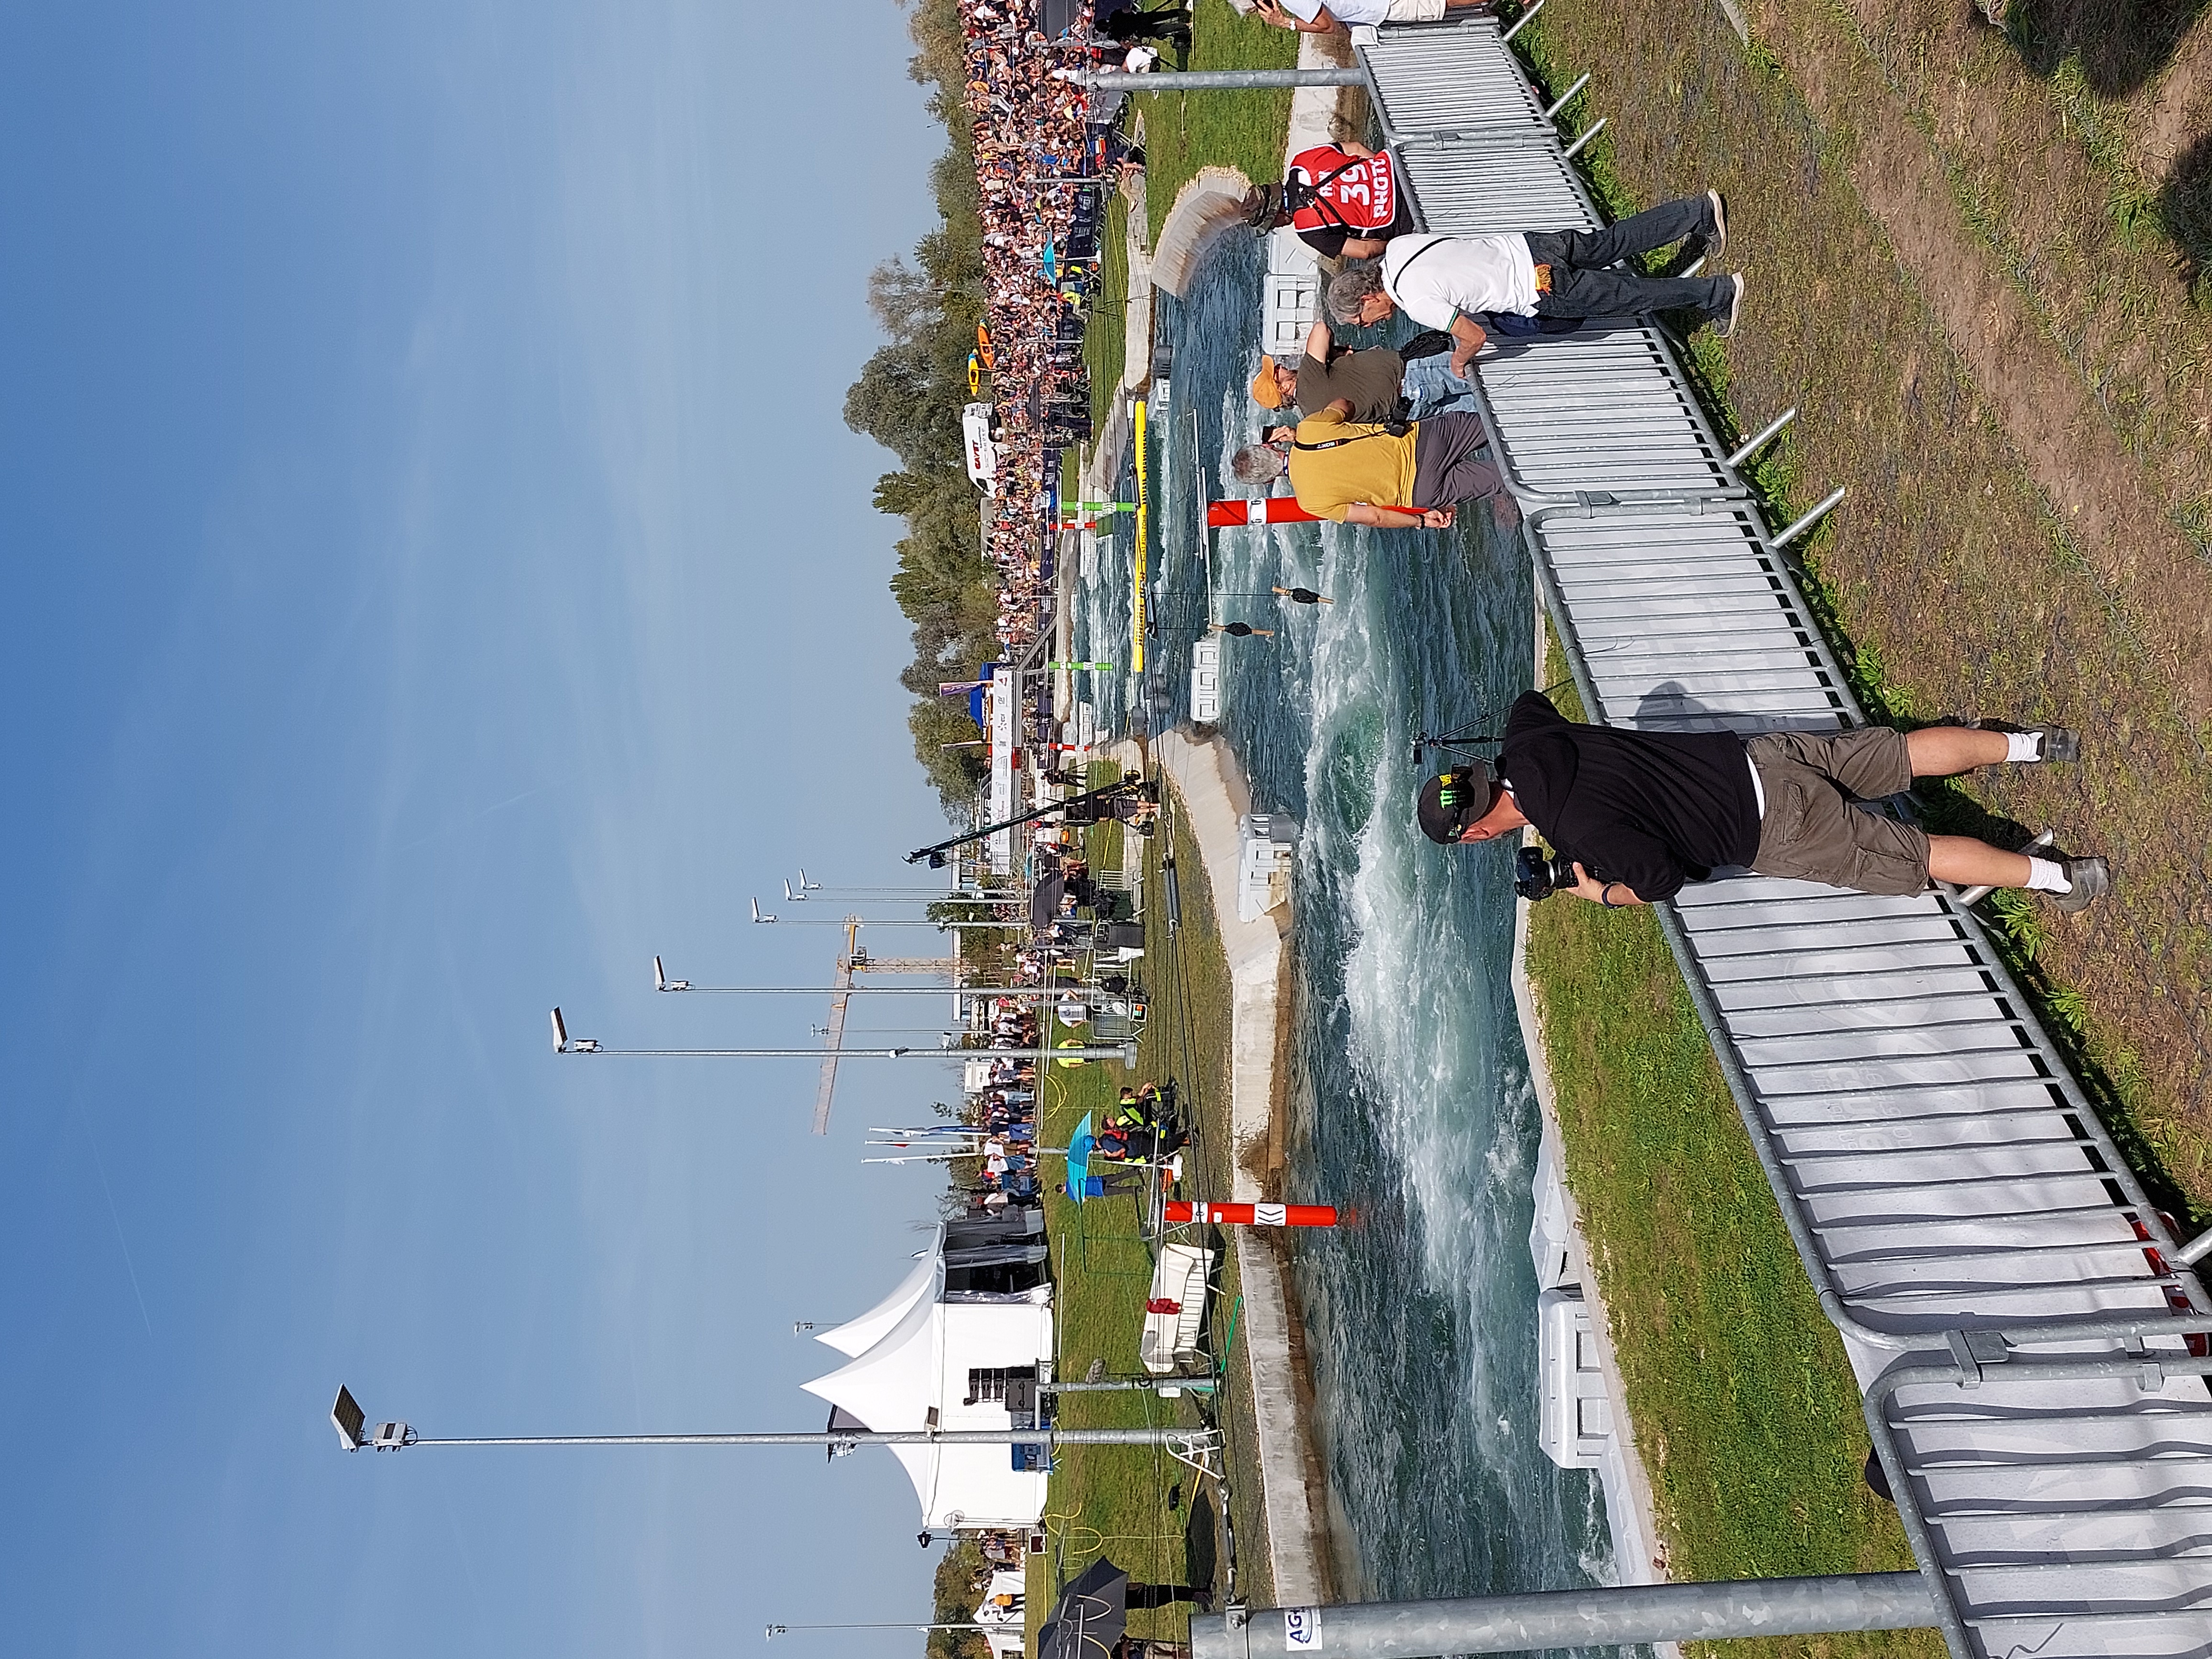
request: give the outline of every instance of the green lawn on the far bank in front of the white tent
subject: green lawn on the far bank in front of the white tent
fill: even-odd
[[[1121,827],[1097,825],[1086,836],[1093,869],[1119,867]],[[1064,1137],[1086,1110],[1102,1110],[1124,1082],[1175,1077],[1183,1099],[1199,1113],[1199,1139],[1186,1152],[1186,1192],[1225,1190],[1228,1115],[1228,1018],[1230,982],[1221,936],[1203,891],[1183,887],[1183,927],[1166,936],[1166,898],[1159,854],[1170,836],[1146,847],[1144,916],[1148,925],[1141,978],[1150,995],[1150,1018],[1139,1042],[1135,1073],[1121,1066],[1055,1066],[1044,1088],[1040,1139],[1064,1146]],[[1179,863],[1197,869],[1188,834],[1175,834]],[[1203,887],[1203,885],[1201,885]],[[1057,1040],[1060,1033],[1055,1033]],[[1130,1197],[1073,1203],[1046,1194],[1046,1232],[1053,1248],[1055,1318],[1060,1327],[1060,1374],[1082,1376],[1104,1360],[1108,1376],[1141,1374],[1137,1336],[1141,1305],[1152,1274],[1152,1252],[1139,1237],[1137,1203]],[[1221,1241],[1210,1241],[1219,1245]],[[1221,1343],[1237,1307],[1234,1265],[1214,1303],[1214,1338]],[[1232,1486],[1237,1491],[1239,1588],[1250,1593],[1254,1566],[1265,1584],[1265,1531],[1259,1515],[1259,1480],[1239,1464],[1252,1462],[1250,1405],[1230,1402]],[[1060,1400],[1066,1427],[1139,1427],[1150,1422],[1197,1422],[1192,1398],[1161,1400],[1152,1394],[1068,1394]],[[1175,1504],[1170,1506],[1170,1493]],[[1099,1555],[1128,1568],[1130,1577],[1155,1584],[1219,1582],[1221,1526],[1214,1486],[1199,1489],[1186,1464],[1152,1447],[1066,1447],[1055,1458],[1046,1528],[1053,1555],[1031,1564],[1031,1628],[1051,1610],[1057,1586]],[[1183,1639],[1186,1608],[1130,1615],[1130,1630],[1157,1639]]]

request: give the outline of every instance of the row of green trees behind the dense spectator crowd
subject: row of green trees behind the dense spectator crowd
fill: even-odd
[[[940,226],[916,243],[911,263],[891,259],[867,279],[887,343],[845,394],[845,425],[898,458],[898,471],[876,480],[876,511],[907,520],[891,595],[914,624],[914,661],[898,679],[916,697],[907,714],[914,754],[960,823],[987,765],[980,748],[945,745],[982,732],[964,699],[938,697],[938,681],[973,679],[998,655],[998,582],[982,557],[980,495],[960,458],[967,358],[982,319],[982,221],[956,0],[918,0],[907,29],[916,44],[907,73],[936,88],[929,108],[947,131],[929,170]]]

